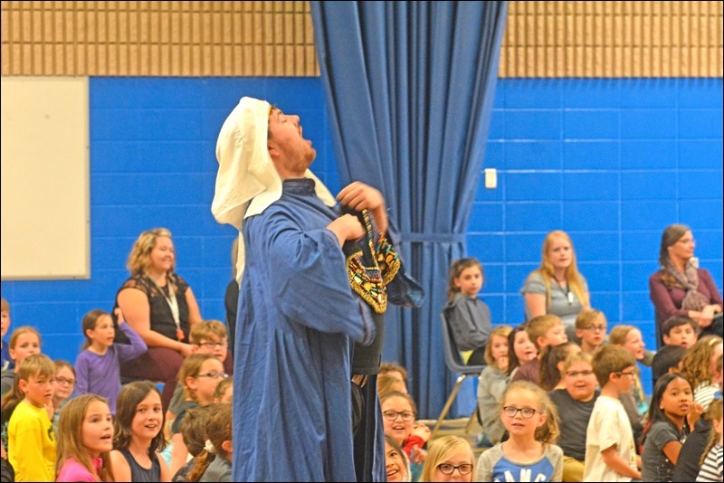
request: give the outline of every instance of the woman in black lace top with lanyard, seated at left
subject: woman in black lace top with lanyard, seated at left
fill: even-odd
[[[202,320],[201,312],[186,280],[174,272],[176,253],[167,229],[141,233],[127,267],[131,276],[116,295],[116,307],[146,342],[148,351],[121,364],[120,374],[163,383],[161,400],[166,411],[176,389],[178,369],[191,354],[190,327]]]

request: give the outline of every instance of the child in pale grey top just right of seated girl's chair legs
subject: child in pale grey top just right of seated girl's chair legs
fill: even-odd
[[[508,340],[512,331],[510,326],[493,328],[485,348],[487,365],[478,378],[478,414],[482,426],[480,441],[483,446],[498,444],[505,433],[499,412],[503,394],[510,384]]]

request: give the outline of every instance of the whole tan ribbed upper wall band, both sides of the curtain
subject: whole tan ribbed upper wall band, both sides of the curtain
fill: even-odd
[[[317,76],[308,2],[2,2],[3,75]],[[721,2],[511,1],[500,77],[721,77]]]

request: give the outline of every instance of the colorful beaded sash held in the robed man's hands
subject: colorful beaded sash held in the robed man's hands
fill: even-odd
[[[347,258],[349,286],[378,314],[387,309],[386,285],[395,279],[400,259],[390,242],[376,230],[367,210],[358,213],[365,227],[365,241]]]

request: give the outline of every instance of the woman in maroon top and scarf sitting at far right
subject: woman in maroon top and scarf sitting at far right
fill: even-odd
[[[693,319],[704,333],[716,330],[711,325],[721,313],[721,295],[709,271],[698,267],[694,246],[691,229],[686,225],[672,224],[663,231],[659,252],[662,269],[649,278],[660,346],[663,323],[673,316]]]

